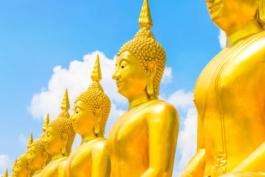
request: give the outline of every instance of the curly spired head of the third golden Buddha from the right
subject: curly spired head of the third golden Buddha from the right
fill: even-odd
[[[71,115],[71,121],[73,121],[75,132],[79,135],[92,133],[96,137],[103,137],[105,124],[111,110],[111,101],[99,83],[101,70],[98,55],[91,79],[93,82],[88,89],[81,93],[74,102],[74,112]]]

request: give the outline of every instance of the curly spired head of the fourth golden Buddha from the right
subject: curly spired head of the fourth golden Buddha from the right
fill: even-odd
[[[69,156],[75,139],[72,122],[70,121],[70,109],[67,90],[61,105],[62,112],[58,117],[48,123],[44,137],[45,150],[51,156],[62,153]]]

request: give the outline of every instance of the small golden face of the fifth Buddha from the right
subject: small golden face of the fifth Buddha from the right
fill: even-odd
[[[41,168],[42,157],[35,146],[32,146],[30,148],[28,155],[28,162],[29,162],[29,167],[31,167],[33,170]]]

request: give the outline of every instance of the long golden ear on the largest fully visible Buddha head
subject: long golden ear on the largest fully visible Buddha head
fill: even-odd
[[[154,74],[156,72],[156,64],[154,61],[150,61],[148,63],[148,73],[149,73],[149,76],[147,78],[147,85],[146,85],[146,89],[147,89],[147,94],[148,96],[152,96],[153,93],[154,93],[154,90],[153,90],[153,79],[154,79]]]

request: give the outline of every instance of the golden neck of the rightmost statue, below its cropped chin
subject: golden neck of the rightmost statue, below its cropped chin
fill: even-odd
[[[263,28],[256,19],[251,19],[245,23],[233,26],[232,28],[226,31],[226,46],[232,47],[239,39],[249,36],[251,34],[255,34],[262,30]]]

